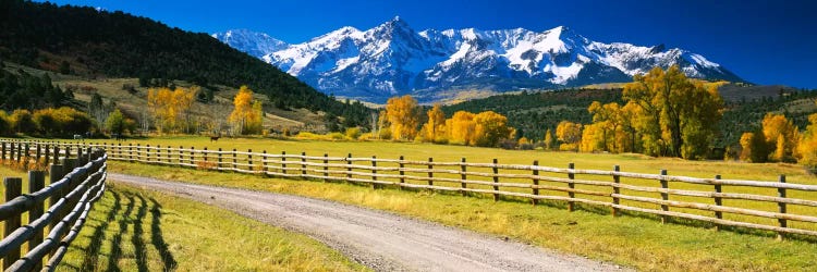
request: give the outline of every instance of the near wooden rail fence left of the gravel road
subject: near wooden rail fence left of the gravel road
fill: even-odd
[[[48,147],[53,149],[48,150],[40,149],[47,146],[39,144],[7,140],[0,144],[3,163],[47,165],[52,162],[48,186],[45,171],[28,172],[28,194],[22,194],[22,178],[3,180],[5,202],[0,205],[0,220],[4,223],[0,240],[3,269],[53,271],[78,235],[93,203],[105,191],[108,157],[105,151],[90,147],[75,150],[71,158],[71,149],[60,150],[60,145],[50,145]],[[26,225],[22,225],[24,213],[28,218]],[[44,236],[46,227],[49,232]],[[25,252],[22,252],[23,244],[27,244]],[[21,258],[21,254],[25,255]]]

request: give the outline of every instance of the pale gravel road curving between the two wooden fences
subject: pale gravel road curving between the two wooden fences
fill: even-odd
[[[376,271],[621,270],[582,257],[333,201],[114,173],[108,178],[304,233]]]

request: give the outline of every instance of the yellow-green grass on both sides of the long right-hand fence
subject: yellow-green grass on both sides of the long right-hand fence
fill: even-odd
[[[566,166],[574,162],[578,169],[609,170],[621,165],[622,171],[723,178],[777,181],[785,174],[790,183],[817,184],[817,178],[795,165],[746,164],[735,162],[694,162],[678,159],[653,159],[637,154],[587,154],[570,152],[509,151],[499,149],[435,146],[394,143],[327,143],[310,140],[222,139],[210,144],[203,137],[169,137],[136,140],[141,145],[184,146],[208,149],[253,149],[268,152],[343,157],[350,150],[355,157],[405,156],[410,160],[434,157],[435,161],[531,163]],[[261,178],[259,176],[224,174],[112,163],[115,172],[156,176],[166,180],[243,187],[304,195],[383,209],[410,217],[431,220],[499,236],[512,237],[533,245],[564,252],[610,260],[644,270],[813,270],[817,268],[817,244],[808,240],[777,242],[768,235],[716,232],[696,223],[660,224],[654,217],[633,214],[611,219],[593,209],[568,212],[563,205],[546,203],[533,207],[522,201],[493,202],[486,197],[459,197],[431,191],[371,190],[368,187],[320,182]],[[812,197],[814,198],[814,197]],[[769,209],[773,207],[768,207]],[[806,213],[809,214],[809,213]],[[817,213],[810,213],[817,214]],[[686,223],[686,222],[682,222]]]

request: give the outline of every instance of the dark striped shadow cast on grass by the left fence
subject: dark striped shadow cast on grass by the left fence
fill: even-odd
[[[168,244],[164,243],[161,231],[161,205],[153,198],[145,199],[139,194],[133,194],[130,191],[115,191],[109,190],[107,194],[111,194],[113,197],[113,205],[106,214],[105,219],[99,220],[99,225],[94,227],[94,232],[90,235],[90,242],[87,247],[78,248],[83,250],[83,261],[80,267],[68,265],[66,268],[76,271],[100,271],[105,268],[105,271],[122,271],[123,268],[120,265],[120,261],[123,258],[127,258],[130,254],[123,252],[123,239],[129,235],[131,231],[131,244],[134,248],[133,258],[136,262],[137,271],[150,271],[148,268],[148,256],[146,239],[144,239],[144,228],[147,224],[145,218],[147,217],[148,210],[150,211],[150,244],[156,247],[159,251],[159,256],[162,262],[162,271],[173,271],[176,268],[176,261],[173,255],[168,249]],[[124,209],[122,206],[125,206]],[[135,212],[135,214],[133,214]],[[111,222],[117,220],[119,228],[110,226]],[[131,226],[132,225],[132,226]],[[129,230],[133,227],[132,230]],[[102,245],[110,243],[110,254],[108,254],[108,265],[103,267],[100,262],[99,256],[105,256],[102,252]],[[126,242],[125,242],[126,243]]]

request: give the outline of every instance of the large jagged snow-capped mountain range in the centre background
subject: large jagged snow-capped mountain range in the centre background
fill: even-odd
[[[691,77],[743,82],[700,54],[663,45],[592,41],[564,26],[540,33],[524,28],[416,32],[394,17],[368,30],[343,27],[266,51],[252,46],[261,42],[214,37],[326,94],[371,102],[404,94],[431,101],[436,92],[452,89],[505,91],[629,82],[656,65],[673,64]]]

